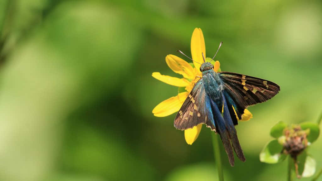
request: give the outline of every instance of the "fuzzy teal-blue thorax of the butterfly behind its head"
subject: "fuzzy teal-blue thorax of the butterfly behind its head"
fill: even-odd
[[[202,72],[205,92],[219,106],[222,103],[223,82],[213,69]]]

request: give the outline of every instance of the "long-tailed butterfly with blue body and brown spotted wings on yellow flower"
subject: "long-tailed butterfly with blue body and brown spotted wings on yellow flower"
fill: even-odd
[[[195,83],[181,106],[174,126],[176,129],[185,130],[201,123],[206,124],[220,135],[230,165],[234,166],[233,150],[244,162],[246,158],[235,125],[238,124],[238,119],[242,119],[248,106],[271,99],[279,92],[279,86],[271,81],[247,75],[216,73],[213,71],[213,64],[205,60],[200,71],[202,78]]]

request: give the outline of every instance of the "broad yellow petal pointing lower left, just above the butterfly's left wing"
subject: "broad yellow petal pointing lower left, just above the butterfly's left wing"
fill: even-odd
[[[188,94],[189,92],[181,92],[177,96],[162,101],[152,110],[152,113],[156,117],[165,117],[179,111]]]

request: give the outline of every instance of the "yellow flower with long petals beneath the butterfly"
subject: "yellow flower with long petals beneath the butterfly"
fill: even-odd
[[[204,35],[200,28],[195,28],[191,37],[191,55],[192,59],[196,62],[204,62],[202,57],[202,52],[206,57],[206,47],[204,43]],[[207,58],[209,59],[209,58]],[[202,76],[200,71],[200,64],[193,62],[194,66],[191,66],[188,62],[175,55],[166,56],[166,64],[170,67],[175,73],[181,74],[183,78],[176,78],[167,75],[161,75],[160,72],[153,72],[152,77],[156,78],[159,81],[165,82],[167,84],[176,86],[176,87],[185,87],[184,92],[180,92],[178,95],[171,97],[167,100],[159,103],[153,110],[152,113],[157,117],[169,116],[180,110],[183,102],[188,97],[190,91],[194,87],[194,84],[199,81],[199,77]],[[214,63],[214,71],[218,71],[220,67],[219,61]],[[249,120],[252,118],[251,112],[245,109],[244,114],[242,115],[242,120]],[[238,117],[237,117],[238,119]],[[239,119],[238,119],[239,120]],[[191,129],[185,130],[185,140],[191,145],[199,136],[202,124],[194,126]]]

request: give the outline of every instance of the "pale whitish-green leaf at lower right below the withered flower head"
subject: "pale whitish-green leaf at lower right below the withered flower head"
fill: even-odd
[[[313,176],[316,170],[316,161],[310,157],[306,151],[301,153],[296,160],[298,164],[298,175],[302,177]],[[295,166],[292,166],[292,169],[295,170]]]

